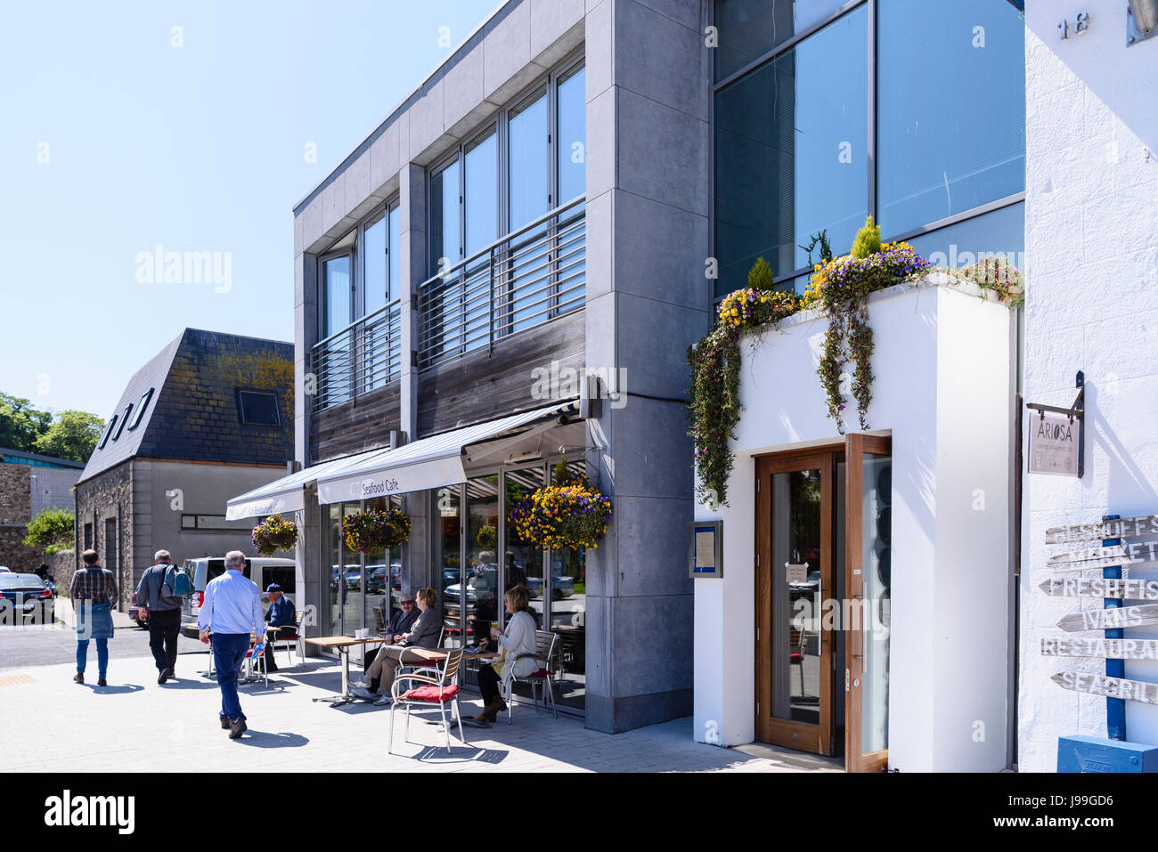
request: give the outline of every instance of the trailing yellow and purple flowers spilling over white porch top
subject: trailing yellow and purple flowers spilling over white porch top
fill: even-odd
[[[816,374],[824,390],[828,416],[840,433],[856,402],[857,423],[866,419],[872,401],[873,330],[868,325],[868,295],[899,284],[911,284],[940,272],[944,284],[973,284],[994,293],[1007,307],[1020,303],[1018,271],[999,257],[979,260],[962,270],[935,270],[911,245],[880,242],[880,228],[870,216],[848,255],[833,257],[823,232],[811,252],[821,247],[821,263],[813,267],[808,288],[801,295],[775,291],[772,273],[760,258],[748,274],[749,287],[730,293],[717,310],[716,326],[688,350],[691,390],[688,402],[689,434],[696,447],[697,497],[710,505],[727,504],[732,472],[728,441],[743,409],[740,398],[740,339],[750,337],[753,347],[763,339],[758,332],[774,329],[782,320],[804,310],[815,310],[828,321]],[[754,333],[756,332],[756,333]],[[846,389],[848,401],[842,394]]]

